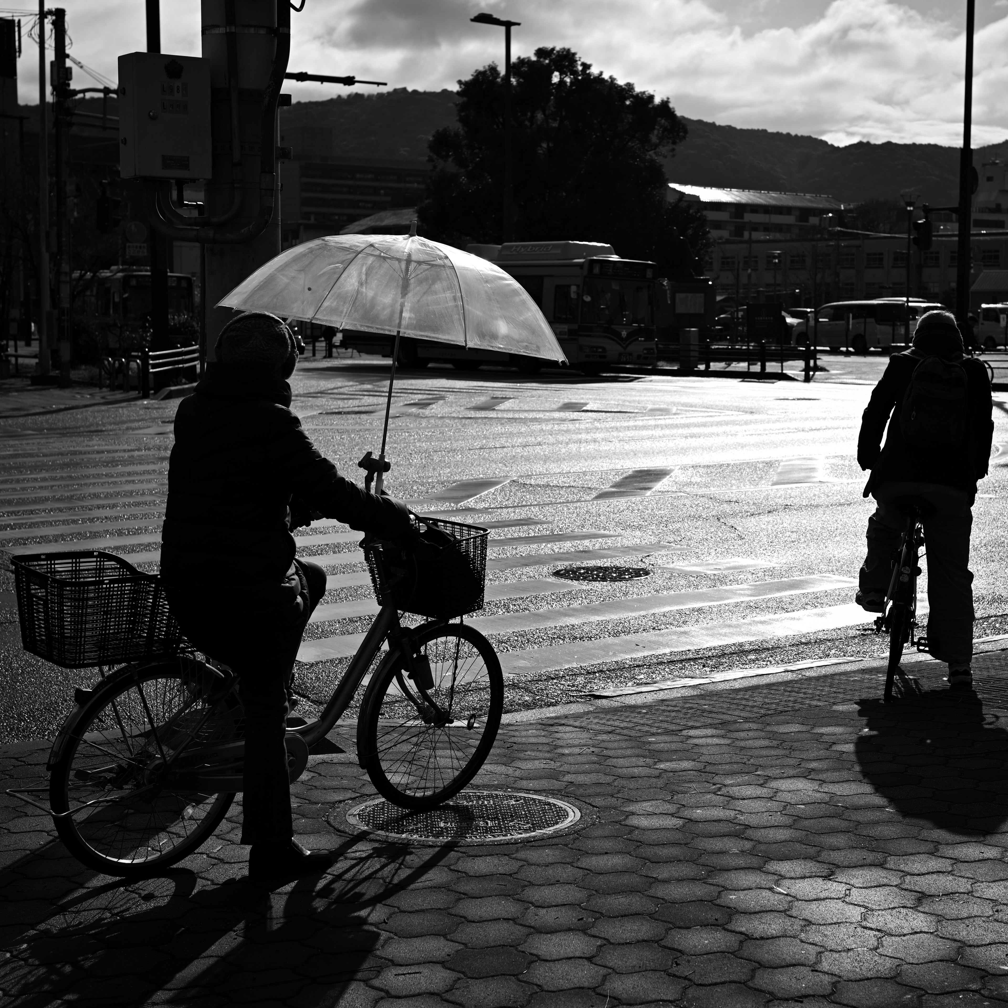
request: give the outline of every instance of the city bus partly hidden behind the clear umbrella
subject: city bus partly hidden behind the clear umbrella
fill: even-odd
[[[568,361],[586,374],[617,365],[652,367],[656,357],[653,262],[622,259],[599,242],[507,242],[467,250],[496,263],[528,291],[552,327]],[[342,345],[390,357],[392,338],[346,330]],[[471,350],[428,340],[403,339],[400,363],[437,361],[464,371],[483,364],[535,373],[545,363],[493,350]]]

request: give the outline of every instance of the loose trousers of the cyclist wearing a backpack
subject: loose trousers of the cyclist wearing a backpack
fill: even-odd
[[[872,496],[878,502],[868,519],[868,555],[861,569],[861,589],[889,587],[893,552],[899,548],[906,516],[893,506],[900,497],[922,497],[935,508],[923,519],[927,566],[927,640],[930,653],[950,668],[968,668],[973,656],[973,574],[970,531],[973,511],[962,490],[935,483],[883,483]]]

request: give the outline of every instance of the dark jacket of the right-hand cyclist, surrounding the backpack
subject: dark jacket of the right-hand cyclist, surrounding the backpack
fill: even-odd
[[[967,376],[967,422],[963,440],[954,447],[911,447],[903,437],[899,409],[916,366],[926,357],[940,357],[962,365]],[[892,481],[937,483],[966,491],[971,502],[977,481],[987,475],[994,421],[991,419],[991,383],[981,361],[963,356],[962,341],[928,335],[914,339],[913,347],[889,358],[889,366],[872,391],[861,418],[858,463],[872,475],[865,487],[867,497],[876,487]],[[891,418],[891,419],[890,419]],[[879,451],[886,421],[889,432]]]

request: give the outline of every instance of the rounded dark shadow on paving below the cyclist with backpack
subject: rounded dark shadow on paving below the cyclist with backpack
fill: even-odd
[[[858,702],[854,751],[865,780],[902,815],[974,836],[1008,821],[1008,718],[985,714],[972,690]]]

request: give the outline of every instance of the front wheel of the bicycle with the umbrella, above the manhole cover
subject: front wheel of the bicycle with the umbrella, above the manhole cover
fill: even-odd
[[[483,766],[501,723],[504,677],[490,642],[465,624],[421,630],[416,640],[430,678],[409,678],[401,657],[386,662],[365,697],[357,745],[378,793],[422,810],[458,794]]]

